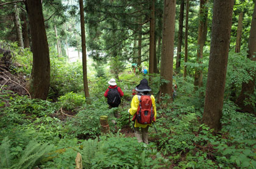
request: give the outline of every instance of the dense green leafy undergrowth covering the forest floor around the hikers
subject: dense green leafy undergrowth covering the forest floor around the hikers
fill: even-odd
[[[121,74],[118,86],[125,95],[119,108],[108,109],[106,77],[90,79],[89,105],[77,82],[81,65],[52,61],[62,72],[52,67],[48,100],[0,92],[0,168],[75,168],[77,152],[84,168],[256,168],[255,116],[236,111],[226,100],[222,130],[214,136],[201,122],[204,98],[198,95],[205,89],[194,92],[193,79],[175,78],[177,96],[157,104],[157,132],[149,128],[150,143],[144,145],[135,139],[127,113],[140,78]],[[152,78],[154,95],[158,79]],[[100,116],[108,116],[113,134],[101,136]]]

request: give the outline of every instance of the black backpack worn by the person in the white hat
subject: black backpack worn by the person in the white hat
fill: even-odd
[[[108,88],[107,103],[108,105],[112,106],[112,108],[118,107],[119,104],[121,103],[121,97],[117,88],[118,87],[114,89]]]

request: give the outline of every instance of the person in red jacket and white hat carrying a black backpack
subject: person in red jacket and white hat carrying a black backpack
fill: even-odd
[[[123,97],[124,92],[121,90],[121,88],[119,86],[116,85],[115,78],[111,78],[108,81],[108,84],[110,84],[110,86],[108,86],[107,90],[105,91],[104,96],[108,98],[109,108],[110,109],[111,108],[116,108],[121,103],[121,97]],[[113,89],[115,89],[115,90],[113,90]],[[111,94],[109,92],[111,92]],[[114,94],[113,94],[113,92],[114,92]],[[112,95],[115,95],[115,92],[119,93],[118,98],[111,98]],[[115,117],[117,117],[117,114],[118,113],[115,112]]]

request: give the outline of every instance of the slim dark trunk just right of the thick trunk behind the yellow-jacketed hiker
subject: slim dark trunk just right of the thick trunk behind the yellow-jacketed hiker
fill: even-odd
[[[182,33],[183,33],[183,20],[184,20],[184,4],[185,0],[180,2],[180,18],[179,18],[179,32],[178,32],[178,45],[177,45],[177,58],[176,58],[176,72],[180,72],[180,59],[182,49]]]

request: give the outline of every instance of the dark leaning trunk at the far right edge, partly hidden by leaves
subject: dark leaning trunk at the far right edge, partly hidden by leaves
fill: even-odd
[[[248,55],[247,57],[252,61],[256,61],[255,52],[256,52],[256,1],[254,4],[254,14],[252,15],[252,23],[251,23],[251,30],[249,36],[249,43],[248,43]],[[246,98],[249,98],[248,94],[254,94],[255,90],[255,72],[252,75],[252,80],[249,80],[248,83],[242,84],[241,93],[236,100],[236,104],[242,108],[245,112],[255,112],[255,109],[252,105],[244,105],[244,101]]]

